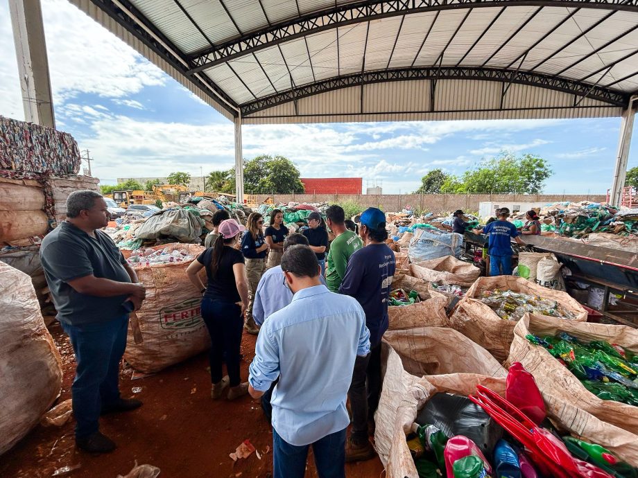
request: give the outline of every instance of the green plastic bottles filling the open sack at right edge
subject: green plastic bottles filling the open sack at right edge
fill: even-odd
[[[605,340],[583,342],[564,332],[526,338],[544,346],[601,400],[638,406],[638,354]]]

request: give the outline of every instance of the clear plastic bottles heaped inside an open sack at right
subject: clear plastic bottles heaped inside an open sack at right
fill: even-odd
[[[527,312],[576,320],[576,315],[552,299],[543,299],[512,290],[485,290],[479,299],[503,320],[519,321]]]

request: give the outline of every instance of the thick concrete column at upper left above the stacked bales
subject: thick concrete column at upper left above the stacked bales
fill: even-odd
[[[55,127],[40,0],[9,0],[26,121]]]

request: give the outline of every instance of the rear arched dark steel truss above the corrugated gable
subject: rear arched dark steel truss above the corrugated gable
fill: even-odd
[[[557,78],[555,76],[531,71],[481,67],[433,66],[390,70],[383,69],[328,78],[327,80],[288,89],[279,94],[245,103],[241,105],[241,114],[245,117],[262,109],[336,89],[370,85],[372,83],[408,80],[483,80],[496,81],[503,84],[512,82],[519,85],[531,85],[553,89],[576,96],[587,95],[587,98],[599,100],[616,107],[627,107],[629,101],[629,96],[619,91],[613,91],[604,87],[592,87],[590,83],[578,82],[567,78]]]

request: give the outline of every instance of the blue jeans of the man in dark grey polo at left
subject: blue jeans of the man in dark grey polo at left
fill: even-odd
[[[126,348],[128,315],[107,322],[71,326],[62,324],[76,354],[76,378],[71,387],[76,437],[85,438],[99,430],[103,407],[120,398],[119,363]]]

